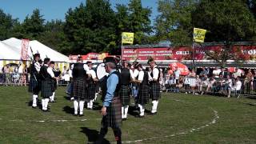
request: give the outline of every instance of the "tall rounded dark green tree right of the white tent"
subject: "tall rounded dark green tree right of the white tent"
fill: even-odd
[[[66,14],[64,33],[70,53],[102,52],[116,46],[115,15],[109,1],[87,0]]]

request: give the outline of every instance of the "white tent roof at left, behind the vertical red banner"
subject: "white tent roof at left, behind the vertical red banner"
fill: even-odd
[[[18,54],[21,53],[22,40],[17,39],[17,38],[9,38],[2,42],[14,47],[14,50],[16,50],[16,52],[18,52]],[[66,55],[61,54],[58,51],[53,50],[50,47],[45,46],[41,42],[38,42],[36,40],[30,41],[30,47],[33,50],[34,54],[38,52],[41,55],[42,59],[47,57],[55,62],[69,62],[69,58],[66,57]],[[29,51],[29,56],[32,57],[31,50],[29,49],[28,51]],[[12,55],[9,55],[9,57],[12,57]],[[19,56],[18,60],[19,59],[20,59],[20,56]],[[30,60],[30,59],[28,59],[28,60]]]

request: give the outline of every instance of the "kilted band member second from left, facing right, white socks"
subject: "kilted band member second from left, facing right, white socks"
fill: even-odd
[[[57,77],[54,76],[54,62],[50,62],[50,58],[45,58],[43,61],[43,66],[40,69],[40,76],[42,79],[41,84],[41,96],[42,96],[42,111],[50,111],[48,109],[48,102],[50,96],[52,96],[54,91],[54,83],[53,79],[58,80]]]

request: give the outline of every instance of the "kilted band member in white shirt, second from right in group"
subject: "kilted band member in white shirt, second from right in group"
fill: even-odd
[[[149,102],[149,75],[146,70],[143,69],[142,64],[138,63],[135,68],[139,71],[138,73],[138,107],[139,117],[143,118],[145,114],[145,105]]]

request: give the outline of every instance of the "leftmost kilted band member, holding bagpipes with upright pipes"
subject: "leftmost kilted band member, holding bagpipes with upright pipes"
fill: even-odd
[[[34,54],[34,60],[30,65],[30,86],[29,92],[33,94],[32,96],[32,108],[38,106],[38,94],[41,89],[41,80],[39,78],[39,72],[41,68],[40,54]]]

